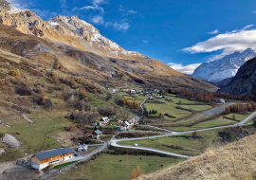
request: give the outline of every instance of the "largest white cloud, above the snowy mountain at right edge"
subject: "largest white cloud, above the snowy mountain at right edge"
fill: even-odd
[[[248,25],[240,30],[232,30],[223,34],[218,34],[207,41],[183,48],[182,51],[189,53],[204,53],[223,50],[222,54],[210,58],[210,60],[217,60],[236,50],[244,51],[249,47],[256,49],[256,29],[248,29],[252,26],[253,25]]]

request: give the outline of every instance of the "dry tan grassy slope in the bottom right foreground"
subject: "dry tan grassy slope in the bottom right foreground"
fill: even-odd
[[[256,173],[256,135],[229,144],[215,152],[204,153],[172,168],[142,175],[138,180],[252,180]]]

